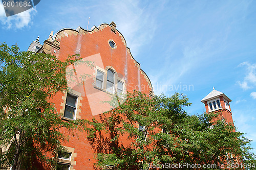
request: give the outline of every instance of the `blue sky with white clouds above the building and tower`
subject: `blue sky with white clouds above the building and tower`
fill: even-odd
[[[44,0],[10,17],[0,3],[0,42],[27,51],[37,36],[42,43],[51,31],[86,29],[89,17],[89,29],[114,21],[155,93],[185,93],[188,113],[205,111],[212,86],[224,92],[256,148],[256,1]]]

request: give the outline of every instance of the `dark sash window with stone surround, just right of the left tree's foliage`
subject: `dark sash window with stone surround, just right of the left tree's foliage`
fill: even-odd
[[[74,95],[71,95],[70,93],[68,93],[64,117],[75,119],[74,116],[75,116],[75,111],[76,111],[76,101],[77,101],[77,96],[74,96]]]

